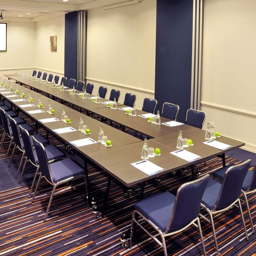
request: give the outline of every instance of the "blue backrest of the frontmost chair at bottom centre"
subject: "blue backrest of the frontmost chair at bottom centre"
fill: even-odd
[[[198,180],[184,183],[178,188],[173,212],[165,233],[179,230],[198,217],[209,176],[207,174]]]

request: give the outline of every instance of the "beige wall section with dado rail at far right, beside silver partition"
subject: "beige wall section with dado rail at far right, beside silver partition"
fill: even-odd
[[[202,110],[256,152],[256,1],[204,0]]]

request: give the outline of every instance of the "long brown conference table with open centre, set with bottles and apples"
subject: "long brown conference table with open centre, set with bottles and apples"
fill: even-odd
[[[69,117],[71,117],[71,124],[68,125],[61,121],[42,123],[40,121],[41,119],[52,117],[52,115],[46,112],[30,114],[27,112],[27,109],[22,108],[22,105],[24,104],[23,102],[12,102],[12,98],[8,97],[12,94],[3,94],[4,90],[0,90],[1,96],[4,97],[6,100],[11,101],[12,105],[15,105],[16,108],[19,108],[21,111],[25,112],[33,120],[42,125],[47,131],[54,133],[65,143],[73,147],[75,151],[82,154],[85,159],[86,166],[86,159],[89,159],[90,161],[101,167],[103,170],[105,170],[106,173],[108,173],[109,178],[105,194],[103,212],[106,208],[112,178],[120,181],[125,187],[128,188],[132,187],[133,185],[140,184],[141,189],[139,199],[141,199],[143,197],[146,181],[170,173],[173,170],[185,168],[188,166],[191,167],[192,176],[193,178],[195,178],[193,166],[196,163],[202,162],[215,156],[220,156],[222,157],[223,166],[225,166],[225,153],[231,149],[245,145],[244,142],[221,136],[220,138],[216,138],[215,141],[226,143],[229,145],[229,147],[225,149],[211,147],[207,144],[203,144],[204,142],[206,142],[206,140],[204,139],[205,131],[203,131],[202,129],[191,127],[186,124],[178,125],[175,127],[168,127],[167,125],[163,124],[152,124],[148,122],[147,118],[142,118],[138,116],[140,114],[146,113],[141,110],[137,110],[136,117],[129,116],[124,111],[121,111],[119,109],[110,109],[106,105],[102,103],[94,103],[90,99],[81,99],[79,95],[71,95],[68,93],[68,91],[59,91],[57,89],[55,94],[55,89],[49,86],[42,86],[39,85],[37,82],[28,80],[26,78],[20,78],[18,76],[16,77],[14,75],[7,76],[29,86],[31,86],[32,83],[35,83],[34,86],[31,86],[32,88],[39,89],[40,86],[42,87],[42,90],[39,90],[45,93],[47,93],[46,90],[49,89],[49,94],[53,96],[63,99],[69,103],[75,102],[75,105],[85,108],[101,117],[107,118],[111,121],[115,121],[116,123],[133,129],[134,131],[141,132],[144,135],[152,138],[147,141],[148,147],[161,149],[160,156],[155,156],[154,158],[150,158],[147,160],[148,162],[154,163],[155,165],[161,167],[161,171],[148,175],[147,173],[142,172],[131,165],[131,163],[142,161],[140,157],[143,147],[143,141],[139,140],[138,138],[135,138],[134,136],[131,136],[123,131],[111,127],[110,125],[106,125],[100,121],[97,121],[94,118],[81,114],[80,112],[72,108],[68,108],[67,106],[65,106],[65,112]],[[15,86],[21,89],[21,86]],[[24,93],[25,90],[26,93],[28,92],[28,89],[24,89],[24,87],[22,87],[22,89]],[[31,91],[30,94],[34,98],[39,96],[44,106],[47,105],[49,98],[43,96],[42,94],[38,94],[35,91]],[[101,100],[106,101],[106,99]],[[80,101],[80,103],[78,101]],[[52,99],[50,99],[50,105],[53,109],[56,110],[56,113],[53,116],[60,119],[63,105]],[[119,107],[125,106],[119,105]],[[29,107],[29,110],[36,109],[38,109],[37,106]],[[108,139],[112,140],[113,147],[107,148],[101,143],[78,147],[72,144],[72,141],[87,138],[87,135],[84,135],[79,131],[72,131],[61,134],[58,134],[54,131],[55,129],[65,128],[67,126],[77,130],[81,115],[83,117],[84,124],[87,125],[87,128],[91,129],[90,138],[97,141],[99,126],[100,124],[102,124],[104,135],[108,135]],[[161,117],[161,123],[166,123],[168,121],[171,120]],[[189,138],[193,140],[194,146],[184,148],[186,152],[188,151],[190,153],[198,155],[198,157],[193,159],[192,161],[187,161],[185,159],[177,157],[175,154],[170,154],[178,151],[176,148],[176,143],[179,130],[182,130],[183,138]],[[85,172],[88,177],[88,170],[86,166]]]

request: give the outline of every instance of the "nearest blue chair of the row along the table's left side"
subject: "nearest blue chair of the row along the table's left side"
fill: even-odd
[[[32,202],[34,202],[34,200],[35,200],[35,195],[37,193],[37,189],[38,189],[38,186],[39,186],[39,183],[40,183],[42,177],[44,177],[45,180],[49,184],[53,185],[53,190],[52,190],[52,194],[50,196],[48,207],[47,207],[47,210],[45,213],[44,222],[46,221],[46,219],[48,217],[48,213],[50,210],[50,205],[52,203],[53,196],[57,195],[59,193],[62,193],[64,191],[66,191],[67,189],[78,187],[79,185],[84,184],[85,185],[85,193],[86,193],[86,204],[88,206],[88,189],[87,189],[87,180],[86,180],[86,176],[84,174],[84,169],[82,167],[80,167],[78,165],[78,163],[75,163],[73,160],[71,160],[69,158],[61,160],[59,162],[49,163],[47,156],[46,156],[46,151],[45,151],[44,145],[42,143],[40,143],[34,137],[32,137],[32,138],[34,140],[35,151],[37,153],[38,163],[39,163],[40,170],[41,170],[41,173],[39,174],[37,186],[35,188],[35,192],[33,195]],[[61,170],[61,172],[60,172],[60,170]],[[60,189],[58,192],[55,193],[55,190],[58,185],[61,185],[64,183],[66,184],[69,181],[77,180],[80,178],[83,178],[84,182],[74,185],[74,186],[71,185],[69,187]]]

